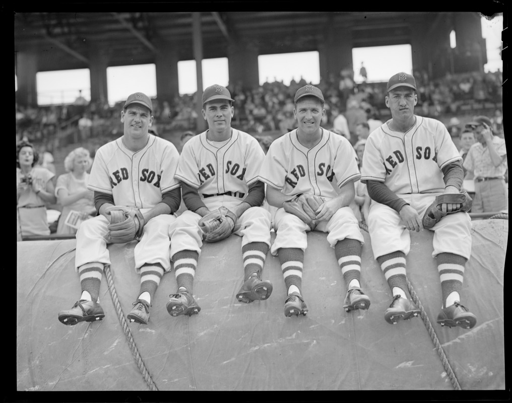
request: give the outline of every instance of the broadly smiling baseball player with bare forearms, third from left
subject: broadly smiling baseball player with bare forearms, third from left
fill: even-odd
[[[278,255],[281,263],[288,292],[287,317],[308,311],[301,288],[306,232],[312,229],[328,232],[327,241],[334,248],[347,287],[344,308],[351,311],[370,306],[359,283],[364,238],[349,207],[354,200],[354,181],[360,177],[356,155],[344,136],[320,126],[324,103],[322,91],[316,87],[297,90],[293,114],[298,128],[272,142],[259,174],[267,185],[268,203],[278,207],[270,252]],[[318,207],[311,208],[312,222],[289,208],[289,203],[305,205],[303,201],[311,199],[319,199]]]

